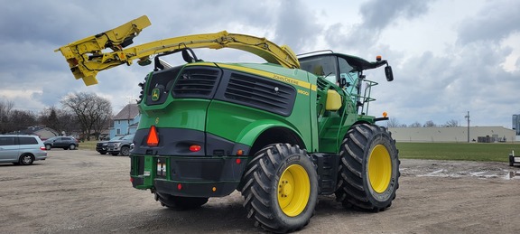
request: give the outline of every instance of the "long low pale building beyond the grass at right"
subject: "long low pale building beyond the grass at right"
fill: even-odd
[[[468,142],[468,127],[390,127],[397,142]],[[469,142],[515,142],[515,130],[503,126],[470,126]]]

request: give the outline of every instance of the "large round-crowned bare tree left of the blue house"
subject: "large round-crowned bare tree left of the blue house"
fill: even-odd
[[[78,117],[83,136],[90,140],[90,134],[94,130],[96,138],[100,133],[99,125],[105,125],[112,116],[111,105],[106,98],[98,97],[94,93],[79,92],[70,94],[61,100],[65,108],[70,108]],[[108,117],[107,117],[108,116]]]

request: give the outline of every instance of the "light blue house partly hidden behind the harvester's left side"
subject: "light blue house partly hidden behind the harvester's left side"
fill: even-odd
[[[110,128],[110,138],[114,136],[125,136],[128,134],[135,134],[137,125],[141,115],[137,104],[128,104],[123,108],[116,117],[112,118],[114,127]]]

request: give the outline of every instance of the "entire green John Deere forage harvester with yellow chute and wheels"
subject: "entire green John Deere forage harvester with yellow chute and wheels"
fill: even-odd
[[[194,34],[129,47],[139,17],[60,47],[76,79],[98,83],[101,70],[153,61],[140,83],[141,114],[130,154],[130,180],[172,210],[241,192],[248,218],[274,232],[302,229],[318,195],[345,207],[384,211],[399,187],[395,140],[367,115],[365,70],[387,61],[334,53],[297,57],[265,38]],[[265,63],[203,61],[194,49],[232,48]],[[161,57],[177,54],[185,63]],[[153,57],[154,56],[154,57]]]

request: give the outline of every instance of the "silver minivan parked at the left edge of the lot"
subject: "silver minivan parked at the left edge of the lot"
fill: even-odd
[[[0,164],[29,165],[46,158],[47,151],[39,136],[0,135]]]

